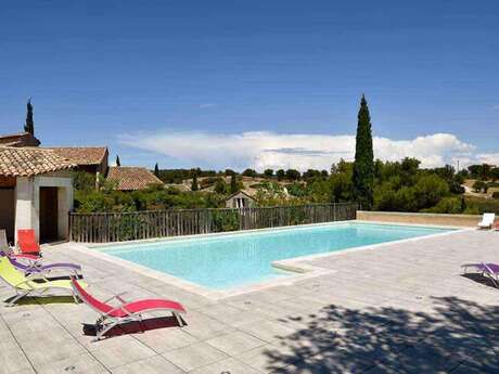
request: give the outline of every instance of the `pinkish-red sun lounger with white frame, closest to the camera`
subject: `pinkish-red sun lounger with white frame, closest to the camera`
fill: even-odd
[[[121,297],[124,294],[115,295],[107,300],[100,301],[87,293],[75,276],[72,275],[71,281],[75,294],[90,308],[101,314],[95,322],[95,340],[100,340],[106,332],[120,323],[135,321],[142,324],[142,313],[145,312],[165,310],[174,314],[179,326],[183,326],[184,324],[180,314],[185,313],[185,309],[179,302],[166,299],[141,299],[128,302]],[[119,305],[112,306],[107,304],[113,299],[118,300]]]

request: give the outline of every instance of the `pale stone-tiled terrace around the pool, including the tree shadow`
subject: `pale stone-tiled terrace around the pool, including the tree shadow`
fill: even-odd
[[[499,232],[459,232],[308,261],[327,276],[212,301],[72,244],[92,294],[168,297],[188,326],[153,315],[92,343],[97,314],[60,296],[0,307],[0,373],[497,373],[499,289],[460,265],[499,262]],[[2,300],[12,289],[1,284]],[[166,327],[165,327],[166,326]],[[163,327],[163,328],[158,328]],[[88,330],[88,328],[86,328]],[[127,334],[124,334],[124,333]]]

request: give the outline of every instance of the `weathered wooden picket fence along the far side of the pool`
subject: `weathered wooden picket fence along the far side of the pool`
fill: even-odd
[[[241,209],[71,212],[69,238],[108,243],[344,221],[355,219],[358,208],[357,203],[338,203]]]

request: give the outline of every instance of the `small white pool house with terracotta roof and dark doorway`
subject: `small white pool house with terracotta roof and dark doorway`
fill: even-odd
[[[0,146],[0,228],[9,241],[18,229],[35,229],[42,242],[67,237],[73,167],[52,150]]]

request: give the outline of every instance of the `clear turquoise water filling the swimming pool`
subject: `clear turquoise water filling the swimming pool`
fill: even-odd
[[[102,247],[100,250],[215,289],[261,282],[290,272],[272,261],[449,230],[340,223]]]

